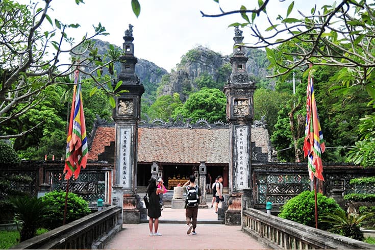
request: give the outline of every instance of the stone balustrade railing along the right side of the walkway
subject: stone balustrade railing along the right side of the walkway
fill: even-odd
[[[273,249],[373,249],[374,245],[268,215],[256,209],[242,213],[242,229]]]

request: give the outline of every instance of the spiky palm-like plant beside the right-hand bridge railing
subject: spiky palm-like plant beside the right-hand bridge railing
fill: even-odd
[[[375,213],[366,213],[358,215],[354,213],[346,214],[342,210],[337,210],[335,214],[329,213],[323,216],[322,221],[332,224],[329,232],[337,233],[356,240],[364,240],[363,233],[360,230],[361,222],[374,216]]]

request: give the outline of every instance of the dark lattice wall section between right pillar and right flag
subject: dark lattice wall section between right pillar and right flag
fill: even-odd
[[[297,194],[310,190],[310,179],[301,174],[256,174],[255,204],[283,205]]]

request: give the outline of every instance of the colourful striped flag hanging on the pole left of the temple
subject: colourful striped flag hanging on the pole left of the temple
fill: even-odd
[[[66,139],[65,180],[74,174],[78,179],[81,167],[85,168],[88,157],[85,115],[82,104],[82,88],[79,81],[79,71],[74,72],[73,101],[71,104],[68,137]]]

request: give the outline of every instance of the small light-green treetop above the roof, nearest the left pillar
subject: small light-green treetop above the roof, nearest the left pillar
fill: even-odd
[[[176,108],[182,107],[182,105],[179,93],[174,93],[172,96],[162,95],[149,107],[147,113],[151,119],[168,121],[173,111]]]

